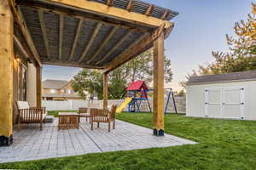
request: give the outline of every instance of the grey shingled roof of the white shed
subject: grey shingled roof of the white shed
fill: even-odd
[[[209,82],[237,82],[237,81],[247,81],[247,80],[256,80],[256,70],[233,72],[233,73],[218,74],[218,75],[206,75],[206,76],[200,76],[200,77],[190,77],[187,84],[190,85],[190,84],[201,84],[201,83],[209,83]]]

